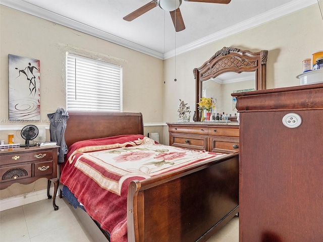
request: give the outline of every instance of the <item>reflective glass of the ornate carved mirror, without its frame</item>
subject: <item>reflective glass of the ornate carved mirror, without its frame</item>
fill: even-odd
[[[223,73],[216,78],[202,83],[202,93],[213,98],[216,109],[212,113],[223,113],[236,116],[235,98],[231,93],[255,90],[255,72]]]

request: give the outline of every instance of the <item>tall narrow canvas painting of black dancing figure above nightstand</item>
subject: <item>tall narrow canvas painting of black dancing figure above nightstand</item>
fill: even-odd
[[[40,62],[9,54],[9,119],[40,119]]]

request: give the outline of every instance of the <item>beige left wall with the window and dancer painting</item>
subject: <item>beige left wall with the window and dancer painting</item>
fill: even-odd
[[[123,111],[142,112],[144,123],[163,122],[163,61],[161,59],[107,42],[82,32],[55,24],[19,11],[0,7],[0,138],[8,142],[6,129],[14,129],[15,142],[23,142],[20,130],[27,124],[49,126],[49,123],[9,123],[8,121],[8,54],[40,60],[40,119],[58,107],[66,107],[66,51],[103,58],[123,67]],[[10,128],[9,128],[10,129]],[[148,132],[160,132],[163,127],[145,127]],[[47,130],[47,140],[48,130]],[[40,182],[41,183],[41,182]],[[47,183],[34,186],[12,186],[2,190],[0,198],[24,194],[32,189],[46,188]],[[25,189],[22,189],[25,187]]]

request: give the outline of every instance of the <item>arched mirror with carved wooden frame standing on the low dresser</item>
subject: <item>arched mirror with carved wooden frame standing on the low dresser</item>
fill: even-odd
[[[223,47],[200,68],[193,70],[196,80],[196,103],[200,98],[216,99],[216,112],[236,113],[231,93],[265,89],[267,50],[251,52],[235,47]],[[204,92],[204,95],[203,95]],[[201,111],[196,104],[196,120]],[[214,110],[213,110],[214,112]],[[211,118],[212,119],[212,118]]]

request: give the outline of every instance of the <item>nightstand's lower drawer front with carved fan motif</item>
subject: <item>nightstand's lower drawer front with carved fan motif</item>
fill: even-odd
[[[16,165],[0,168],[0,182],[19,180],[32,176],[32,164]]]

